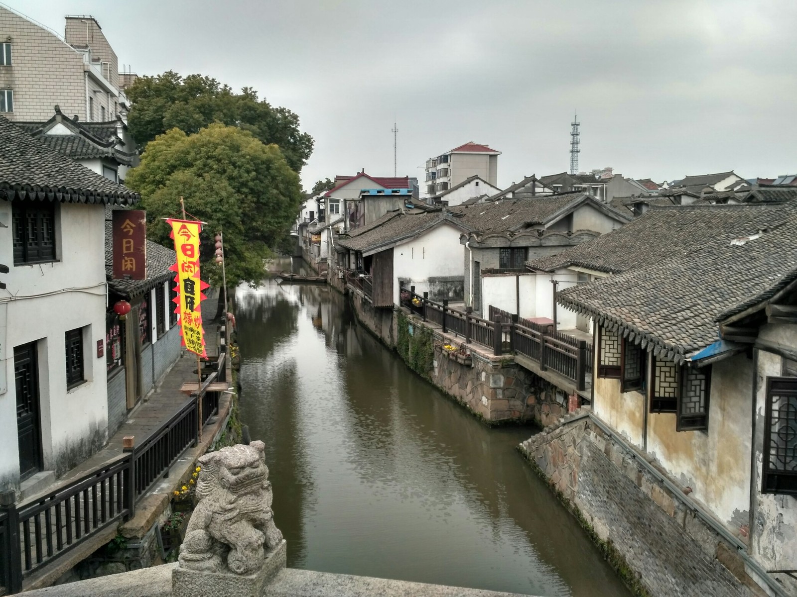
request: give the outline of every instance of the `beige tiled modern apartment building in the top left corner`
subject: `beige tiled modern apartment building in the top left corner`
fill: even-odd
[[[70,118],[124,116],[116,53],[91,16],[68,16],[64,37],[0,5],[0,113],[45,121],[53,106]]]

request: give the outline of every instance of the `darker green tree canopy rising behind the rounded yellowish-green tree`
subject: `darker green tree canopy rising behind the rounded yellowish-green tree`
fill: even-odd
[[[139,77],[125,94],[131,102],[129,131],[142,147],[175,127],[192,135],[219,122],[250,131],[266,145],[277,144],[296,172],[312,153],[312,137],[299,131],[299,117],[288,108],[258,100],[252,88],[234,93],[209,76],[182,77],[167,71]]]

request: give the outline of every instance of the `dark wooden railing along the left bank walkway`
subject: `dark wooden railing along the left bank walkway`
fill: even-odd
[[[199,404],[202,423],[218,413],[221,394],[207,388],[226,380],[226,352],[214,367],[174,416],[117,460],[19,507],[13,491],[0,493],[0,595],[22,591],[27,576],[135,514],[136,503],[196,445]]]

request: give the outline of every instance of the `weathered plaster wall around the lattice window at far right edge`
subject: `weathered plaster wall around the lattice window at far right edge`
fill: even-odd
[[[759,338],[795,350],[797,326],[768,324]],[[764,456],[764,416],[767,404],[767,377],[783,375],[783,358],[766,350],[758,351],[756,383],[756,490],[752,532],[752,555],[768,570],[797,568],[797,497],[761,493]],[[784,579],[786,580],[786,579]],[[797,583],[795,583],[797,584]],[[797,588],[797,587],[795,587]]]

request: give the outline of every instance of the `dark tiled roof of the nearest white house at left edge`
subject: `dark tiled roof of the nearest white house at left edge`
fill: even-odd
[[[0,117],[0,194],[6,199],[130,205],[139,194],[88,170]]]

